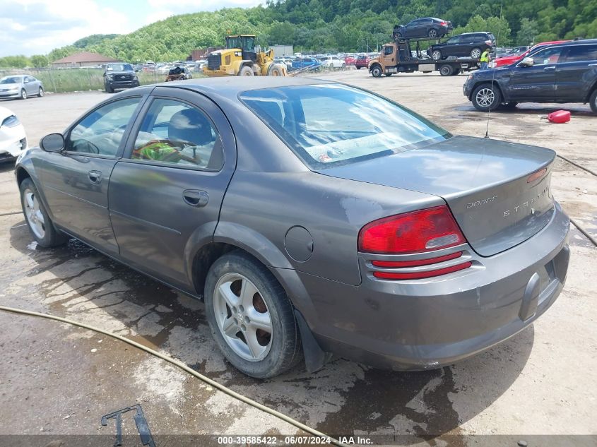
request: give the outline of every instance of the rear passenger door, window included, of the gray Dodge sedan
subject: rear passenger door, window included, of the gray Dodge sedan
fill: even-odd
[[[187,258],[211,242],[235,164],[232,129],[211,100],[156,88],[110,179],[122,258],[194,292]]]

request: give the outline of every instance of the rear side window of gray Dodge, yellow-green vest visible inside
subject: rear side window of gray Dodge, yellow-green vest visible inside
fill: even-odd
[[[224,165],[220,136],[206,114],[185,102],[163,98],[151,103],[131,158],[213,170]]]

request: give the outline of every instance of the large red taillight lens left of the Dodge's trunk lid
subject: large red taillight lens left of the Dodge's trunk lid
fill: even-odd
[[[466,242],[446,205],[374,220],[359,232],[359,251],[424,253]]]

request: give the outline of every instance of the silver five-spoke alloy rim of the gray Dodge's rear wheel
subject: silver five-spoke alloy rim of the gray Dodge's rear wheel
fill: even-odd
[[[227,273],[215,285],[213,310],[227,345],[249,362],[263,360],[271,349],[273,325],[261,292],[244,275]]]

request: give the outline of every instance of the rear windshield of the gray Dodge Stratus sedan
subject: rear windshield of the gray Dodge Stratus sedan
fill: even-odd
[[[451,136],[394,102],[348,85],[249,90],[240,99],[312,169],[401,153]]]

